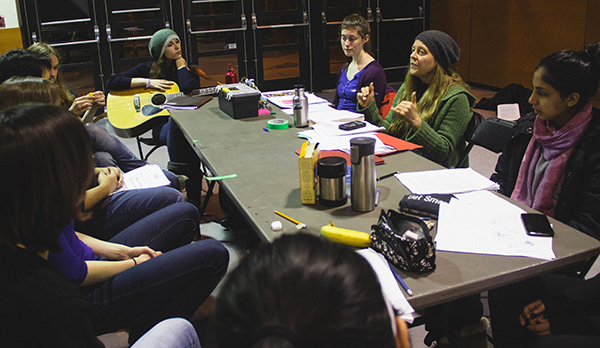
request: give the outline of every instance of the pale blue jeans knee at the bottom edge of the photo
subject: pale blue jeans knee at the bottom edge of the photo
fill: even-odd
[[[131,348],[200,348],[200,341],[189,321],[171,318],[156,324]]]

